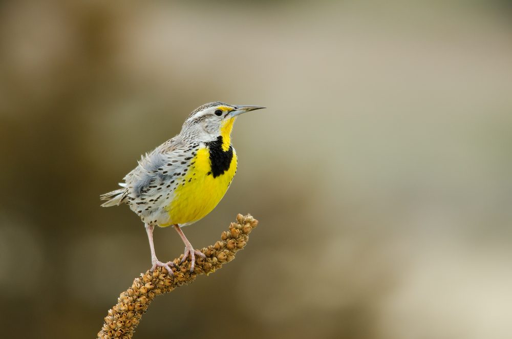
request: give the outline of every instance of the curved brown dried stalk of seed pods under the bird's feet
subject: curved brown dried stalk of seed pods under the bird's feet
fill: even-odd
[[[141,273],[133,281],[132,287],[119,295],[117,304],[109,310],[98,338],[131,338],[140,322],[142,314],[150,306],[155,296],[172,291],[183,284],[193,282],[199,274],[209,274],[221,268],[224,263],[234,259],[234,255],[244,248],[249,240],[248,234],[258,225],[250,215],[237,216],[237,222],[229,225],[229,231],[222,232],[221,240],[215,245],[201,249],[206,259],[196,256],[194,272],[190,273],[190,259],[183,262],[179,269],[173,268],[173,275],[163,267],[153,272]],[[179,264],[183,255],[174,260]]]

